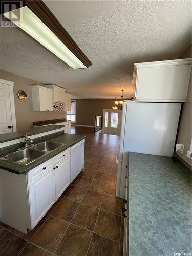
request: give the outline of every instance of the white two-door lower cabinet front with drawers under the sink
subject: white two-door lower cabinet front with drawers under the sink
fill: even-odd
[[[38,178],[30,182],[34,174]],[[63,151],[30,170],[28,182],[30,182],[28,190],[33,229],[70,184],[70,150]]]

